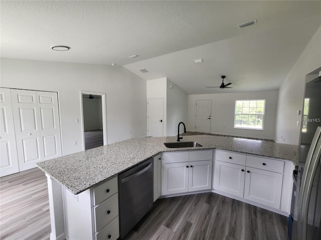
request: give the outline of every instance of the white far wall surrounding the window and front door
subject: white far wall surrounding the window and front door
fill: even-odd
[[[277,90],[189,95],[188,130],[195,131],[196,100],[212,100],[211,133],[274,139]],[[265,99],[263,130],[234,128],[235,100]]]

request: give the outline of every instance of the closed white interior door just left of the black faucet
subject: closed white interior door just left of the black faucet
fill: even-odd
[[[148,136],[163,136],[164,105],[163,98],[148,98]]]

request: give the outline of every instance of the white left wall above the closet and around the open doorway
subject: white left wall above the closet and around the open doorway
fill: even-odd
[[[63,155],[82,150],[81,90],[106,93],[108,143],[146,135],[146,81],[122,66],[1,58],[1,86],[58,92]]]

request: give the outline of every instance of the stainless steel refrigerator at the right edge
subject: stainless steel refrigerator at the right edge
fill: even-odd
[[[321,239],[321,77],[305,84],[292,240]],[[293,199],[292,199],[293,200]]]

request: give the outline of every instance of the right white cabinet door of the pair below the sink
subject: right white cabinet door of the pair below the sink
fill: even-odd
[[[212,160],[190,161],[189,191],[212,188]]]

